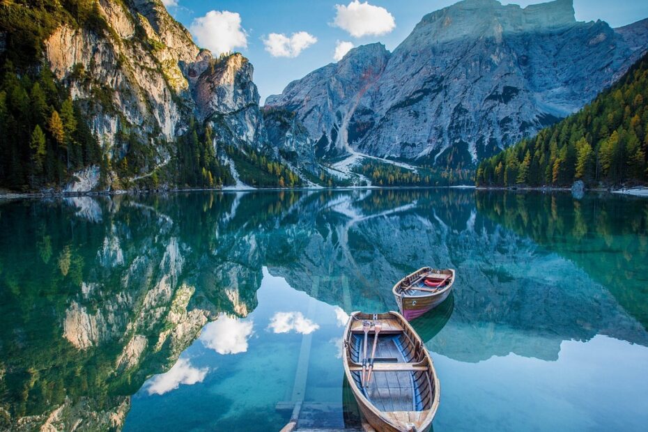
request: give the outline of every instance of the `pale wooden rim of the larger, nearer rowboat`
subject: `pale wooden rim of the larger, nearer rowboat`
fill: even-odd
[[[366,408],[367,410],[369,410],[371,412],[371,414],[378,417],[378,419],[380,419],[381,422],[384,422],[385,424],[387,424],[389,427],[393,428],[396,431],[402,431],[403,430],[402,429],[403,425],[394,423],[392,421],[392,419],[390,419],[389,417],[387,417],[385,415],[385,413],[389,413],[389,412],[425,412],[425,411],[427,411],[426,416],[424,417],[423,421],[420,424],[420,428],[421,428],[420,431],[426,431],[431,426],[432,421],[433,421],[433,419],[434,419],[434,417],[436,415],[436,412],[437,412],[437,410],[439,408],[441,387],[440,387],[439,378],[438,378],[437,373],[436,373],[436,369],[434,368],[434,361],[432,360],[432,356],[430,355],[429,351],[427,350],[423,339],[421,339],[419,334],[417,334],[417,332],[414,330],[414,327],[412,327],[412,325],[410,325],[410,323],[405,319],[405,317],[403,317],[398,312],[389,311],[389,312],[387,312],[385,314],[377,314],[378,316],[391,315],[393,318],[396,318],[396,320],[399,321],[399,325],[401,325],[402,332],[406,332],[406,330],[409,330],[411,332],[411,334],[416,337],[416,341],[419,342],[420,347],[422,348],[422,351],[424,353],[424,359],[421,360],[421,362],[424,361],[424,360],[428,360],[427,365],[426,365],[428,367],[427,373],[429,373],[431,375],[431,376],[429,376],[429,381],[431,381],[430,385],[433,385],[433,391],[434,391],[433,399],[430,401],[430,408],[428,410],[421,410],[421,411],[385,411],[385,412],[380,411],[380,410],[378,410],[378,408],[376,408],[376,406],[373,405],[373,403],[369,399],[367,399],[366,396],[364,396],[362,391],[360,391],[360,389],[357,387],[357,385],[355,383],[355,380],[354,380],[354,378],[353,378],[353,376],[351,374],[351,371],[350,371],[350,361],[351,360],[350,360],[350,348],[349,348],[349,345],[348,345],[348,339],[350,338],[351,334],[353,333],[351,331],[351,325],[352,325],[353,321],[355,319],[357,319],[356,316],[358,314],[362,314],[362,312],[355,311],[352,314],[350,314],[349,319],[348,319],[348,321],[346,323],[346,327],[344,329],[344,339],[343,339],[344,340],[344,355],[343,355],[342,360],[343,360],[343,364],[344,364],[344,373],[346,374],[346,378],[347,378],[348,383],[349,383],[349,385],[351,387],[351,391],[353,392],[353,395],[355,396],[356,401],[361,406],[360,408],[363,408],[363,407]],[[367,314],[367,315],[372,315],[372,314]],[[378,318],[378,319],[389,319],[389,318]],[[407,334],[406,334],[406,336],[407,336]],[[353,364],[355,365],[357,363],[353,362]],[[363,413],[363,415],[364,415],[364,413]],[[367,417],[367,416],[365,415],[365,417]],[[367,420],[369,421],[369,419],[367,419]],[[376,427],[376,426],[374,426],[374,427]],[[419,430],[419,429],[417,429],[417,430]]]

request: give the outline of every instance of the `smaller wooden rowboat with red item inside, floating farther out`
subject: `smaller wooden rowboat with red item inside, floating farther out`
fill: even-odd
[[[392,289],[401,314],[407,321],[422,316],[445,300],[454,284],[454,270],[419,268],[403,277]]]

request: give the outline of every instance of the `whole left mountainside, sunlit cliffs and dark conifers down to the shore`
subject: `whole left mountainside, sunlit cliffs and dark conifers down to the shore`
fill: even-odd
[[[197,47],[160,0],[0,0],[0,187],[317,181],[298,122],[265,125],[253,70]]]

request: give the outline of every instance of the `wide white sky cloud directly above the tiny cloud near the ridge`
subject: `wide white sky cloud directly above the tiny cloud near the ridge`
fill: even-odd
[[[333,25],[348,31],[354,38],[384,35],[396,27],[394,16],[387,9],[367,1],[353,0],[348,6],[337,4],[335,8],[337,14]]]

